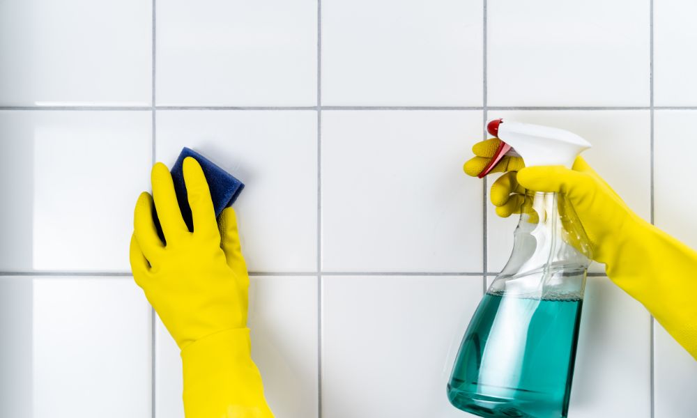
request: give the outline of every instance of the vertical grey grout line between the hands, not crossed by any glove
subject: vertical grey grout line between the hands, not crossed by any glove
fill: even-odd
[[[317,0],[317,418],[322,418],[322,0]]]

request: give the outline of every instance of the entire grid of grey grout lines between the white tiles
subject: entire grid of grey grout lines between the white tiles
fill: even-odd
[[[152,1],[152,92],[151,92],[151,106],[150,107],[140,107],[140,106],[66,106],[66,107],[0,107],[0,111],[34,111],[34,110],[45,110],[45,111],[151,111],[152,114],[152,162],[154,164],[156,159],[156,111],[174,111],[174,110],[201,110],[201,111],[216,111],[216,110],[229,110],[229,111],[316,111],[317,112],[317,260],[316,260],[316,272],[250,272],[250,276],[313,276],[317,277],[317,301],[318,301],[318,417],[322,417],[322,280],[321,277],[325,276],[426,276],[426,277],[438,277],[438,276],[482,276],[483,277],[483,288],[484,292],[487,290],[487,277],[498,274],[495,272],[489,272],[487,265],[487,178],[484,178],[482,183],[483,194],[482,194],[482,219],[483,219],[483,261],[482,261],[482,272],[323,272],[321,270],[321,111],[483,111],[483,121],[484,124],[487,121],[488,110],[585,110],[585,111],[613,111],[613,110],[650,110],[650,219],[654,223],[654,109],[675,109],[675,110],[697,110],[697,107],[654,107],[654,80],[653,80],[653,0],[650,0],[650,106],[649,107],[488,107],[487,106],[487,0],[483,0],[483,19],[484,19],[484,33],[483,33],[483,106],[482,107],[438,107],[438,106],[325,106],[321,105],[321,0],[317,2],[317,105],[310,107],[227,107],[227,106],[157,106],[155,104],[155,52],[156,52],[156,19],[155,19],[155,3],[156,0]],[[484,139],[487,139],[486,130],[484,131]],[[0,277],[2,276],[28,276],[28,277],[131,277],[130,272],[0,272]],[[604,277],[603,273],[588,273],[589,277]],[[152,379],[152,417],[156,417],[156,404],[155,404],[155,361],[156,361],[156,350],[155,350],[155,311],[151,308],[151,379]],[[651,417],[654,417],[654,323],[651,318],[650,323],[650,404],[651,404]]]

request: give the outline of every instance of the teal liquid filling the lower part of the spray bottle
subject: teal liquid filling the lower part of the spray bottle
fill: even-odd
[[[582,304],[484,295],[447,385],[450,403],[480,417],[567,417]]]

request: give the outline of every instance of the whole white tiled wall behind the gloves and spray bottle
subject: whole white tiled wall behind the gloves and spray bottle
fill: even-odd
[[[0,417],[178,418],[130,277],[182,146],[247,187],[250,327],[283,418],[467,417],[445,383],[515,219],[461,165],[484,121],[565,127],[697,247],[691,0],[0,2]],[[697,362],[592,266],[570,416],[695,416]],[[671,277],[657,279],[670,280]]]

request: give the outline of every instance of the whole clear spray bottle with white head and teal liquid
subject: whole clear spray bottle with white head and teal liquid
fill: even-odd
[[[505,155],[526,167],[571,168],[590,144],[553,127],[496,120]],[[562,194],[527,191],[503,271],[465,332],[447,385],[455,407],[480,417],[567,417],[590,243]]]

